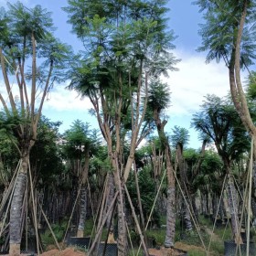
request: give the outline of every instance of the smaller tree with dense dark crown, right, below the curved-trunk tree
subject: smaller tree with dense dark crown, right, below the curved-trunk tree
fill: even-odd
[[[228,176],[229,208],[231,213],[232,232],[236,242],[240,243],[240,228],[238,220],[238,204],[235,197],[231,167],[234,159],[248,150],[249,142],[240,118],[230,101],[208,95],[192,120],[192,125],[200,133],[206,133],[214,142],[218,154],[223,161]],[[224,176],[223,176],[224,177]]]

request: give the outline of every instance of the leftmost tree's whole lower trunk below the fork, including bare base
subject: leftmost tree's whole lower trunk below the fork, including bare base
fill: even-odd
[[[10,209],[10,241],[9,241],[9,255],[20,255],[21,242],[21,222],[22,222],[22,203],[25,196],[27,186],[27,165],[28,156],[22,158],[21,169],[16,177],[15,191],[12,198]]]

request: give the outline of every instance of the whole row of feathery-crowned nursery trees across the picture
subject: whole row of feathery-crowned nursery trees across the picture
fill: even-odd
[[[231,98],[236,111],[230,101],[208,96],[202,111],[195,114],[192,123],[202,134],[202,150],[193,170],[191,169],[191,176],[184,160],[187,131],[177,128],[173,142],[181,187],[189,192],[185,201],[189,194],[196,194],[197,187],[194,184],[197,184],[203,165],[206,144],[210,141],[215,144],[225,173],[229,176],[232,229],[236,242],[240,243],[238,207],[231,197],[234,185],[230,174],[235,161],[248,151],[248,133],[253,138],[256,134],[240,82],[240,66],[248,68],[255,57],[254,45],[251,43],[255,6],[254,1],[247,0],[222,2],[196,1],[205,12],[207,21],[200,30],[203,37],[203,47],[200,49],[209,49],[208,60],[223,58],[226,62]],[[119,255],[125,255],[127,246],[126,221],[123,216],[125,196],[129,198],[126,182],[135,166],[138,146],[155,128],[167,176],[165,247],[174,245],[176,171],[165,131],[165,109],[170,103],[170,92],[167,90],[168,85],[161,82],[160,76],[166,75],[169,70],[175,70],[179,60],[171,52],[175,36],[167,27],[168,10],[165,6],[165,0],[69,0],[68,6],[63,9],[68,13],[72,31],[84,45],[84,50],[77,55],[53,36],[52,20],[48,12],[39,5],[28,9],[17,3],[9,5],[7,11],[1,9],[0,59],[6,89],[6,94],[0,94],[4,110],[1,115],[1,131],[13,142],[17,158],[20,159],[10,209],[10,255],[19,255],[20,251],[30,163],[36,161],[31,169],[35,179],[34,186],[38,176],[41,176],[42,186],[48,178],[45,175],[48,172],[43,171],[43,159],[37,159],[40,152],[32,151],[40,132],[43,104],[54,83],[67,79],[70,80],[70,90],[78,91],[81,97],[89,97],[93,106],[91,112],[97,118],[106,143],[107,151],[104,152],[107,154],[107,166],[111,170],[107,177],[109,196],[106,204],[107,210],[111,212],[117,198]],[[10,82],[12,79],[16,80],[14,86]],[[19,95],[18,100],[14,97],[14,91]],[[246,130],[242,128],[240,120]],[[78,176],[76,185],[72,186],[80,184],[82,200],[78,236],[81,236],[86,215],[86,181],[90,171],[90,156],[93,155],[97,140],[96,133],[85,135],[89,133],[88,125],[75,123],[72,129],[77,129],[76,136],[73,137],[74,131],[66,134],[66,140],[70,143],[65,147],[69,152],[66,164],[69,163],[67,166]],[[47,131],[48,128],[43,129],[42,133]],[[256,140],[253,141],[256,144]],[[10,147],[9,144],[6,146]],[[47,149],[48,152],[54,151],[55,146],[52,144]],[[56,161],[59,161],[58,155]],[[59,176],[63,176],[62,165],[57,163]],[[32,182],[32,178],[30,181]],[[187,207],[183,211],[187,229],[191,229]],[[136,216],[133,217],[138,224]],[[143,230],[139,225],[137,229],[144,244],[143,214],[141,217]],[[34,221],[36,223],[36,219]],[[111,222],[108,219],[109,225]],[[147,254],[145,247],[144,251]]]

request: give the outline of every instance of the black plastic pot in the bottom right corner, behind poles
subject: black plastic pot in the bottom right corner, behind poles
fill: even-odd
[[[240,246],[240,249],[239,249]],[[232,240],[225,240],[224,241],[224,255],[225,256],[236,256],[236,255],[241,255],[245,256],[246,255],[246,243],[237,245],[234,241]],[[256,255],[256,246],[254,242],[250,242],[250,247],[249,247],[249,255],[250,256],[255,256]]]

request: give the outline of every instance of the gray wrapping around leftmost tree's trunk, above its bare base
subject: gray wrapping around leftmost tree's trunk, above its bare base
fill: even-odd
[[[10,244],[20,244],[21,242],[21,212],[26,185],[27,174],[19,173],[16,177],[15,192],[10,209]]]

